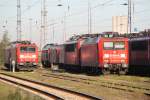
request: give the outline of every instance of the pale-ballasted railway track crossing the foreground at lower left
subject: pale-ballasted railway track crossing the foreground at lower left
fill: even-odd
[[[38,92],[38,94],[44,95],[45,99],[48,100],[101,100],[100,98],[87,94],[74,92],[64,88],[59,88],[38,81],[19,78],[4,73],[0,73],[0,80],[6,81],[14,85],[17,84],[19,85],[19,87]]]

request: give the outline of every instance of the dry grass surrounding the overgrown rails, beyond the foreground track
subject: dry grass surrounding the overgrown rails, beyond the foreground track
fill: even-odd
[[[92,80],[93,79],[96,80],[94,82],[95,85],[90,85],[90,84],[83,84],[80,82],[72,82],[69,80],[62,80],[62,79],[42,76],[42,73],[52,73],[50,70],[40,69],[34,72],[16,72],[16,73],[5,72],[5,73],[9,73],[11,75],[15,75],[15,76],[22,77],[22,78],[38,80],[41,82],[45,82],[45,83],[52,84],[52,85],[62,87],[62,88],[67,88],[67,89],[74,90],[77,92],[91,94],[94,96],[102,97],[106,100],[112,100],[112,99],[113,100],[122,100],[122,99],[149,100],[149,97],[142,94],[142,92],[138,92],[138,91],[127,92],[127,91],[122,91],[122,90],[115,90],[111,88],[102,87],[98,84],[101,84],[102,81],[122,83],[122,84],[125,84],[125,82],[127,82],[127,84],[133,85],[133,86],[149,87],[150,86],[149,83],[145,83],[144,81],[148,81],[150,78],[136,77],[136,76],[118,76],[118,75],[86,76],[83,74],[58,73],[58,74],[63,74],[63,75],[89,78]],[[113,86],[113,85],[110,85],[110,86]],[[128,87],[124,87],[124,88],[126,89]]]

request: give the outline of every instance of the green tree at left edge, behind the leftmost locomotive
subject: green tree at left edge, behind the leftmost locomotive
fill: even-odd
[[[4,62],[4,50],[7,47],[7,45],[10,43],[10,39],[8,37],[8,33],[5,32],[2,40],[0,41],[0,64],[3,64]]]

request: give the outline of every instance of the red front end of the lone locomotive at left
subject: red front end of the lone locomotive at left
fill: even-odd
[[[20,70],[32,70],[38,65],[38,50],[35,45],[20,45],[17,55],[17,67]]]

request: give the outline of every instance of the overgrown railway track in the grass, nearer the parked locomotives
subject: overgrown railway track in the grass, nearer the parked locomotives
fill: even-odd
[[[142,93],[146,95],[150,95],[150,88],[129,85],[130,82],[117,83],[117,82],[109,82],[109,81],[100,80],[99,83],[96,83],[97,80],[94,80],[94,79],[79,78],[79,77],[53,74],[53,73],[43,74],[42,76],[49,77],[49,78],[52,77],[52,78],[57,78],[57,79],[69,80],[69,81],[74,81],[74,82],[80,82],[80,83],[84,83],[88,85],[103,86],[106,88],[112,88],[112,89],[123,90],[123,91],[128,91],[128,92],[141,91]]]

